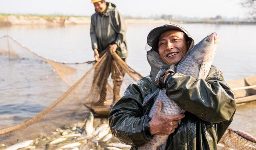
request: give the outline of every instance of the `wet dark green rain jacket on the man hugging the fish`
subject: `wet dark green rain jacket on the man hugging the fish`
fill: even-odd
[[[190,49],[193,46],[194,40]],[[147,52],[150,76],[130,84],[108,118],[112,134],[122,143],[132,145],[131,150],[153,136],[148,117],[154,103],[153,93],[158,89],[153,81],[164,66],[153,49]],[[204,80],[176,72],[166,83],[166,95],[186,110],[180,125],[168,137],[166,150],[216,150],[236,110],[234,94],[222,72],[212,66]],[[148,98],[150,101],[142,106]]]

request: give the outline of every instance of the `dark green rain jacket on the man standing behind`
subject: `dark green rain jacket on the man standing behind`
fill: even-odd
[[[99,53],[105,50],[110,44],[117,44],[118,56],[126,58],[126,26],[116,6],[107,2],[107,8],[103,13],[95,12],[91,16],[90,36],[92,49]]]

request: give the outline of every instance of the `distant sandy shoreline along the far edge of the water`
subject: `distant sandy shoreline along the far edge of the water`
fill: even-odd
[[[167,20],[167,19],[143,19],[143,18],[124,18],[126,24],[256,24],[254,22],[235,22],[223,20]],[[0,14],[0,26],[13,25],[76,25],[76,24],[90,24],[90,17],[88,16],[47,16],[47,15],[16,15],[16,14]]]

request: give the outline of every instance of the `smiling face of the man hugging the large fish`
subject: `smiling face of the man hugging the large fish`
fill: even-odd
[[[179,62],[188,52],[188,42],[179,30],[168,30],[158,40],[158,53],[167,65]]]

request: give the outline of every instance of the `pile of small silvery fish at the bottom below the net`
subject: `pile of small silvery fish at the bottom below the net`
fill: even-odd
[[[57,128],[52,135],[41,134],[11,146],[0,144],[0,150],[130,150],[112,136],[106,122],[90,113],[84,121]]]

